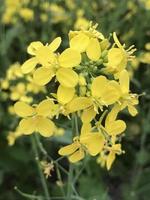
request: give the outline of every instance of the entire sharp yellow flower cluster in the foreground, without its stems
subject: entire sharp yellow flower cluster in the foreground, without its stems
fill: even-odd
[[[55,92],[32,106],[18,101],[14,109],[23,118],[21,132],[44,137],[54,134],[54,119],[63,115],[70,120],[75,114],[82,123],[81,133],[75,131],[73,143],[59,154],[73,163],[98,155],[97,161],[109,170],[116,155],[124,153],[120,142],[126,124],[118,114],[126,108],[132,116],[137,114],[138,96],[130,91],[127,71],[135,49],[126,49],[115,32],[107,39],[96,28],[90,23],[87,29],[70,31],[69,47],[61,53],[60,37],[50,44],[32,42],[27,48],[31,58],[21,70],[39,86],[54,84]]]

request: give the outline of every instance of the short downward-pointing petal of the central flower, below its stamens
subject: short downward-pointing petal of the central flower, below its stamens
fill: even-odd
[[[83,111],[81,120],[83,123],[89,123],[94,119],[95,116],[96,116],[96,111],[94,110],[94,107],[92,106]]]

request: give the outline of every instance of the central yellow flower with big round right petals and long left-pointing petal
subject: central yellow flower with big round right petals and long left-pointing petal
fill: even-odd
[[[115,81],[109,81],[105,76],[98,76],[91,84],[91,96],[75,97],[67,105],[68,112],[83,111],[83,121],[90,122],[103,106],[116,103],[120,97],[120,90],[114,86]]]

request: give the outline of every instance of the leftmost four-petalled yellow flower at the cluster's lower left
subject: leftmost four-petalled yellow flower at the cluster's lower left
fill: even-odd
[[[53,135],[55,125],[49,118],[56,114],[57,106],[52,100],[43,100],[37,107],[19,101],[15,103],[14,109],[18,116],[23,117],[19,123],[22,133],[30,135],[39,132],[44,137]]]

